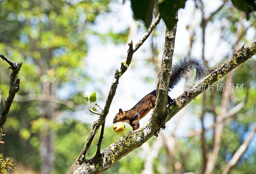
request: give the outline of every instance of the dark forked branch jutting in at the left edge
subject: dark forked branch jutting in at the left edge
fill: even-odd
[[[10,85],[9,85],[9,95],[6,101],[4,102],[4,108],[0,113],[0,128],[3,128],[4,123],[6,122],[6,116],[10,111],[10,107],[12,105],[12,101],[15,97],[15,94],[20,90],[20,79],[16,80],[16,77],[20,71],[20,67],[22,62],[16,64],[15,62],[11,61],[10,59],[6,58],[3,54],[0,53],[0,57],[5,60],[12,69],[12,74],[10,75]]]

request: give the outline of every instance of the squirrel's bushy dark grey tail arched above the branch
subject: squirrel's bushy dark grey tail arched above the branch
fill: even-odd
[[[174,88],[187,73],[196,69],[196,80],[209,74],[209,68],[202,58],[185,57],[172,65],[169,90]]]

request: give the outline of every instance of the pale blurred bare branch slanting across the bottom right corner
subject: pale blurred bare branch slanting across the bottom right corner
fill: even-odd
[[[254,134],[256,132],[256,123],[254,124],[252,130],[250,131],[249,135],[245,138],[244,142],[241,144],[241,146],[236,150],[235,154],[231,158],[231,160],[228,162],[226,168],[223,170],[222,174],[228,174],[230,170],[236,165],[238,160],[241,158],[241,156],[244,154],[245,150],[247,149],[249,143],[251,142]]]

